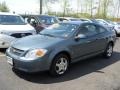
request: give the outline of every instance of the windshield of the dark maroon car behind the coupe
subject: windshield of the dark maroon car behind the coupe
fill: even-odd
[[[58,21],[55,17],[39,16],[39,19],[42,23],[44,23],[46,25],[58,23]]]

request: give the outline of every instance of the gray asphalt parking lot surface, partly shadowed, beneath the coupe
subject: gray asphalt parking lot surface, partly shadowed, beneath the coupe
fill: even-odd
[[[4,53],[0,50],[0,90],[120,90],[120,39],[112,58],[96,56],[80,61],[61,77],[16,71],[6,62]]]

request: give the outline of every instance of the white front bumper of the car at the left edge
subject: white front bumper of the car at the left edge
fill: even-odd
[[[16,38],[9,35],[0,34],[0,48],[8,48]]]

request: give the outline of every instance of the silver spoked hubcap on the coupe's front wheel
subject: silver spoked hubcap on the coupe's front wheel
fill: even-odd
[[[56,72],[58,74],[63,74],[68,67],[68,61],[66,58],[60,58],[56,63]]]

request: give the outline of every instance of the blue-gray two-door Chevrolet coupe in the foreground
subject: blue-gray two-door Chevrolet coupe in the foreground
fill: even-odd
[[[17,70],[28,73],[49,70],[51,75],[59,76],[73,62],[98,54],[110,58],[115,40],[115,32],[99,24],[70,21],[19,39],[7,49],[6,57]]]

